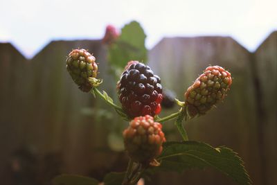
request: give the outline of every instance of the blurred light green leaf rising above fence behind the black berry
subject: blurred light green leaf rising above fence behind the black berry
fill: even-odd
[[[109,45],[109,62],[116,68],[123,69],[130,60],[147,60],[145,33],[137,21],[125,25],[116,42]]]

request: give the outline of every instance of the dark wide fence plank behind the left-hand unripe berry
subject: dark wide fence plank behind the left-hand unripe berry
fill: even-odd
[[[99,63],[99,76],[104,79],[110,77],[105,71],[106,50],[100,40],[57,41],[48,44],[31,61],[32,112],[35,112],[35,118],[28,125],[33,129],[29,131],[33,134],[29,135],[28,141],[44,153],[62,152],[67,173],[85,174],[91,168],[91,149],[105,143],[105,130],[103,127],[96,130],[99,123],[81,113],[84,107],[96,107],[97,102],[90,94],[80,91],[66,71],[66,55],[75,48],[93,52]],[[106,83],[103,87],[109,91],[109,85]],[[99,132],[102,135],[97,134]]]

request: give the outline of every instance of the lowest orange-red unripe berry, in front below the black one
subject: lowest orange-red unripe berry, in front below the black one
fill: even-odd
[[[125,149],[134,161],[149,164],[161,154],[166,138],[161,123],[154,122],[152,116],[139,116],[129,123],[123,132]]]

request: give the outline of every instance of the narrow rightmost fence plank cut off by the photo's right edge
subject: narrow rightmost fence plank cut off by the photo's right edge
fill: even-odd
[[[277,166],[277,31],[271,33],[254,53],[256,85],[259,87],[256,100],[259,103],[258,127],[260,150],[265,173],[265,184],[276,184]]]

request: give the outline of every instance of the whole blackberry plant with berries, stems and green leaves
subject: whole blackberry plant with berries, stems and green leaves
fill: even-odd
[[[137,23],[132,23],[132,25],[137,26]],[[115,85],[121,105],[116,105],[105,91],[98,90],[102,80],[97,79],[98,66],[93,55],[84,49],[74,49],[66,59],[66,69],[78,87],[104,100],[116,110],[118,116],[129,122],[128,127],[123,130],[125,151],[129,156],[127,170],[109,173],[102,182],[78,175],[60,175],[53,179],[54,184],[132,185],[136,184],[139,179],[149,178],[150,174],[161,170],[182,172],[190,168],[206,167],[220,170],[238,184],[251,184],[243,161],[237,153],[226,147],[213,148],[206,143],[189,141],[183,126],[183,121],[203,116],[215,107],[215,104],[226,98],[232,84],[231,73],[219,66],[207,67],[193,82],[193,85],[184,91],[184,101],[170,98],[170,106],[173,102],[173,105],[179,106],[179,110],[160,118],[158,114],[161,112],[163,91],[159,76],[155,75],[146,64],[136,61],[140,60],[139,57],[135,58],[139,55],[133,55],[132,52],[126,58],[129,59],[131,56],[134,58],[121,60],[123,58],[121,58],[120,51],[124,51],[126,45],[120,47],[120,44],[125,42],[128,45],[126,36],[128,29],[134,31],[132,26],[127,25],[120,36],[116,35],[112,39],[107,39],[115,33],[114,28],[111,29],[109,26],[107,32],[111,33],[106,33],[107,37],[105,36],[104,39],[112,41],[107,42],[111,47],[110,60],[114,57],[117,67],[122,69],[125,67],[120,80]],[[141,33],[141,30],[138,33]],[[134,46],[138,47],[137,49],[142,43],[135,39],[130,39],[129,42],[130,48]],[[145,55],[144,47],[142,51]],[[172,120],[175,121],[183,141],[166,141],[162,124]]]

